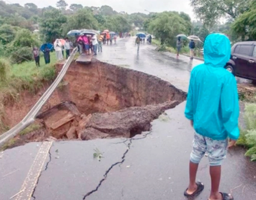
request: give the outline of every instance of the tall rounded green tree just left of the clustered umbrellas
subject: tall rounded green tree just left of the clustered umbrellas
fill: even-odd
[[[40,33],[45,42],[53,42],[62,36],[62,25],[66,23],[67,18],[58,9],[51,9],[43,13],[40,19]]]

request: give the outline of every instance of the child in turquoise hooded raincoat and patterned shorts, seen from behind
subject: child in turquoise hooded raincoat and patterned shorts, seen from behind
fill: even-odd
[[[230,40],[224,34],[210,34],[204,43],[204,64],[191,72],[185,116],[196,133],[190,154],[190,183],[184,191],[188,198],[203,191],[203,183],[196,182],[196,174],[207,152],[211,177],[209,200],[233,200],[231,194],[219,192],[222,161],[239,137],[236,79],[224,69],[230,52]]]

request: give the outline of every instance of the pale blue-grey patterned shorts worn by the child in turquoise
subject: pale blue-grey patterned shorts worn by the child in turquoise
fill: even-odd
[[[190,161],[199,163],[205,153],[209,158],[210,166],[221,165],[226,158],[228,140],[213,140],[209,137],[195,133],[193,140],[193,150],[190,154]]]

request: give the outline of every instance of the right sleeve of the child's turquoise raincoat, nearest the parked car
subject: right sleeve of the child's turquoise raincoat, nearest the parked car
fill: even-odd
[[[239,102],[235,77],[230,74],[230,78],[224,83],[221,94],[221,113],[224,128],[228,132],[228,136],[232,140],[239,137],[238,117]]]

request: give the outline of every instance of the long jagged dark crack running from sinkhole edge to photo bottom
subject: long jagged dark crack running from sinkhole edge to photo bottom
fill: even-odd
[[[103,179],[101,179],[101,180],[99,181],[98,186],[97,186],[94,190],[92,190],[92,191],[88,192],[87,194],[85,194],[85,196],[83,197],[83,200],[85,200],[86,197],[90,196],[92,193],[95,193],[95,192],[98,191],[98,188],[99,188],[99,187],[101,186],[101,184],[107,179],[107,175],[108,175],[108,173],[112,170],[113,167],[115,167],[116,165],[119,165],[119,168],[121,168],[121,165],[125,162],[125,156],[126,156],[126,154],[129,152],[129,150],[130,150],[130,147],[131,147],[131,145],[132,145],[132,141],[133,141],[133,140],[142,140],[142,139],[146,138],[147,135],[149,135],[149,134],[151,134],[151,131],[148,132],[147,134],[145,134],[143,137],[140,137],[140,138],[130,138],[130,139],[126,139],[124,142],[113,143],[113,144],[120,144],[120,143],[125,143],[125,142],[127,142],[127,141],[130,141],[130,142],[127,144],[127,149],[126,149],[125,153],[123,154],[123,156],[122,156],[122,158],[121,158],[122,160],[121,160],[121,161],[118,161],[118,162],[116,162],[116,163],[114,163],[114,164],[112,164],[112,165],[110,166],[110,168],[108,168],[108,170],[107,170],[107,171],[105,172],[105,174],[103,175]],[[125,145],[126,145],[126,143],[125,143]]]

